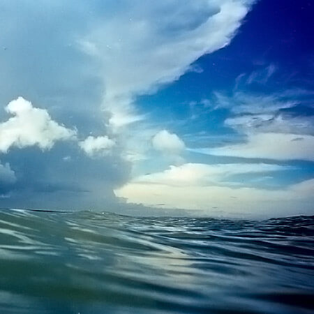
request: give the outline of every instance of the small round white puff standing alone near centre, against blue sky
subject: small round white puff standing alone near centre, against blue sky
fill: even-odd
[[[185,144],[177,134],[170,133],[167,130],[160,130],[152,138],[154,149],[164,154],[180,154],[185,149]]]

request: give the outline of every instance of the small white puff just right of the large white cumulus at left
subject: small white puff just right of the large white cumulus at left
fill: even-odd
[[[89,156],[96,156],[98,154],[109,154],[115,142],[107,136],[89,136],[86,140],[79,142],[79,146]]]

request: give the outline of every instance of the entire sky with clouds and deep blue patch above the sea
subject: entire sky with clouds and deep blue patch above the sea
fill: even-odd
[[[314,214],[313,13],[0,0],[0,207]]]

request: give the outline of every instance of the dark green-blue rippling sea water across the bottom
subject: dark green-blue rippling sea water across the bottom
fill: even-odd
[[[0,313],[312,313],[314,216],[0,211]]]

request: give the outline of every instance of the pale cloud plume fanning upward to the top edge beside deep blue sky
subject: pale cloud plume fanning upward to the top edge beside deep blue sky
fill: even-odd
[[[104,108],[114,130],[142,119],[133,107],[136,96],[177,80],[203,54],[230,43],[253,1],[122,3],[123,10],[96,21],[79,40],[100,61]]]

